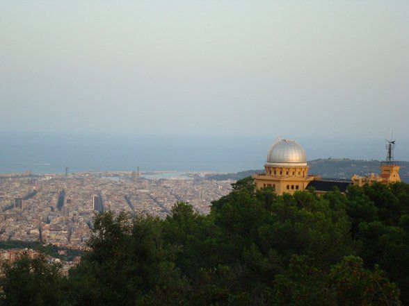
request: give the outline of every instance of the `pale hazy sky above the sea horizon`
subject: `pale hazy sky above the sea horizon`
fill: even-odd
[[[408,139],[409,1],[0,1],[2,132]]]

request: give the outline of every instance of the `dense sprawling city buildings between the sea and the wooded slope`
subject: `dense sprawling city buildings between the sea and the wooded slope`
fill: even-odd
[[[131,173],[0,175],[0,241],[42,241],[83,248],[95,213],[138,212],[165,218],[177,201],[207,214],[211,201],[228,194],[232,180],[146,179]]]

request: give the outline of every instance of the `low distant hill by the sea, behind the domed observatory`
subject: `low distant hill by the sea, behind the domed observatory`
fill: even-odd
[[[409,183],[409,162],[397,162],[401,169],[399,176],[403,182]],[[320,175],[323,178],[351,178],[354,174],[365,176],[371,172],[380,173],[379,160],[350,160],[349,158],[326,158],[308,162],[310,174]],[[209,180],[240,180],[253,173],[264,172],[263,169],[247,170],[237,173],[225,173],[208,176]]]

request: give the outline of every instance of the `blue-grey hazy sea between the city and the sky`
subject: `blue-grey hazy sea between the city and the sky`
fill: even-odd
[[[0,173],[178,171],[232,173],[263,169],[272,136],[0,134]],[[294,139],[294,137],[293,137]],[[308,160],[383,160],[384,139],[296,139]],[[396,141],[395,159],[409,160],[409,141]]]

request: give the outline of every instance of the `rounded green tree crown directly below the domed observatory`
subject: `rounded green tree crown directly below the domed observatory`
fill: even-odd
[[[284,194],[273,204],[272,214],[270,248],[287,258],[307,255],[328,268],[353,251],[345,211],[332,210],[325,198],[311,192]]]

